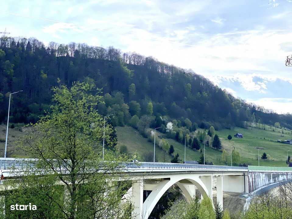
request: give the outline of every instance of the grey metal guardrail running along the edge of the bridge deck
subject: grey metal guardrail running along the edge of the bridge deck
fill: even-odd
[[[33,168],[38,159],[27,158],[1,158],[0,169],[26,169]],[[236,166],[217,166],[217,165],[200,165],[200,164],[177,164],[162,162],[135,162],[125,163],[128,169],[236,169],[247,170],[247,167]]]

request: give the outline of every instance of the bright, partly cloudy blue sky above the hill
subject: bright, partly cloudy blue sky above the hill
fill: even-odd
[[[291,21],[292,0],[0,1],[10,36],[153,56],[277,113],[292,113]]]

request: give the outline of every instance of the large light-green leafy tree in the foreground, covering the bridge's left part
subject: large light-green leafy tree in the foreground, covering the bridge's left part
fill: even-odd
[[[129,208],[116,197],[121,197],[127,188],[114,175],[108,180],[107,174],[122,170],[126,160],[107,150],[105,160],[114,162],[101,158],[104,119],[96,110],[101,101],[100,90],[93,95],[93,89],[93,85],[80,82],[73,83],[70,89],[65,85],[52,89],[51,112],[32,125],[33,131],[18,142],[19,148],[39,158],[38,163],[22,172],[21,177],[15,172],[19,178],[9,182],[14,192],[5,192],[9,206],[37,203],[39,208],[36,211],[6,208],[6,218],[75,219],[126,214],[125,209]],[[112,127],[106,125],[108,144],[112,144],[111,133]]]

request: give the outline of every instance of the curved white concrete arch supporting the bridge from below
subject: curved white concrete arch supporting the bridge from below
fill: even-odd
[[[190,184],[195,185],[200,193],[202,195],[206,194],[209,196],[209,191],[205,184],[202,182],[201,179],[199,179],[199,176],[173,176],[170,179],[165,179],[162,182],[160,182],[156,188],[150,193],[150,195],[147,197],[147,199],[143,203],[143,210],[142,210],[142,218],[147,219],[149,215],[151,214],[153,208],[157,204],[157,202],[160,200],[160,198],[163,196],[163,194],[166,192],[167,189],[169,189],[172,185],[177,184],[184,195],[186,196],[187,200],[190,201],[190,199],[193,197],[193,194],[186,189],[179,181],[181,180],[188,180]]]

